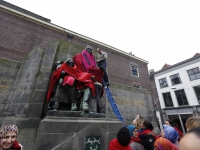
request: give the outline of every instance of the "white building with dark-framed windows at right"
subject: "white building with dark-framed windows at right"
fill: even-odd
[[[175,120],[185,133],[187,119],[200,114],[200,54],[155,72],[154,78],[162,110],[156,112],[160,124],[161,117]]]

